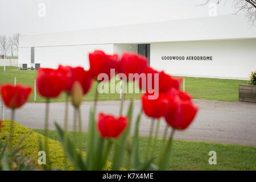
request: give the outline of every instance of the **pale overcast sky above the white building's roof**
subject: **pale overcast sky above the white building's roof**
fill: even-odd
[[[197,18],[209,16],[209,5],[197,6],[206,1],[0,0],[0,35],[11,36],[15,32],[23,35],[42,34]],[[215,4],[216,1],[212,0]],[[233,14],[234,1],[228,0],[225,4],[216,5],[216,15]]]

